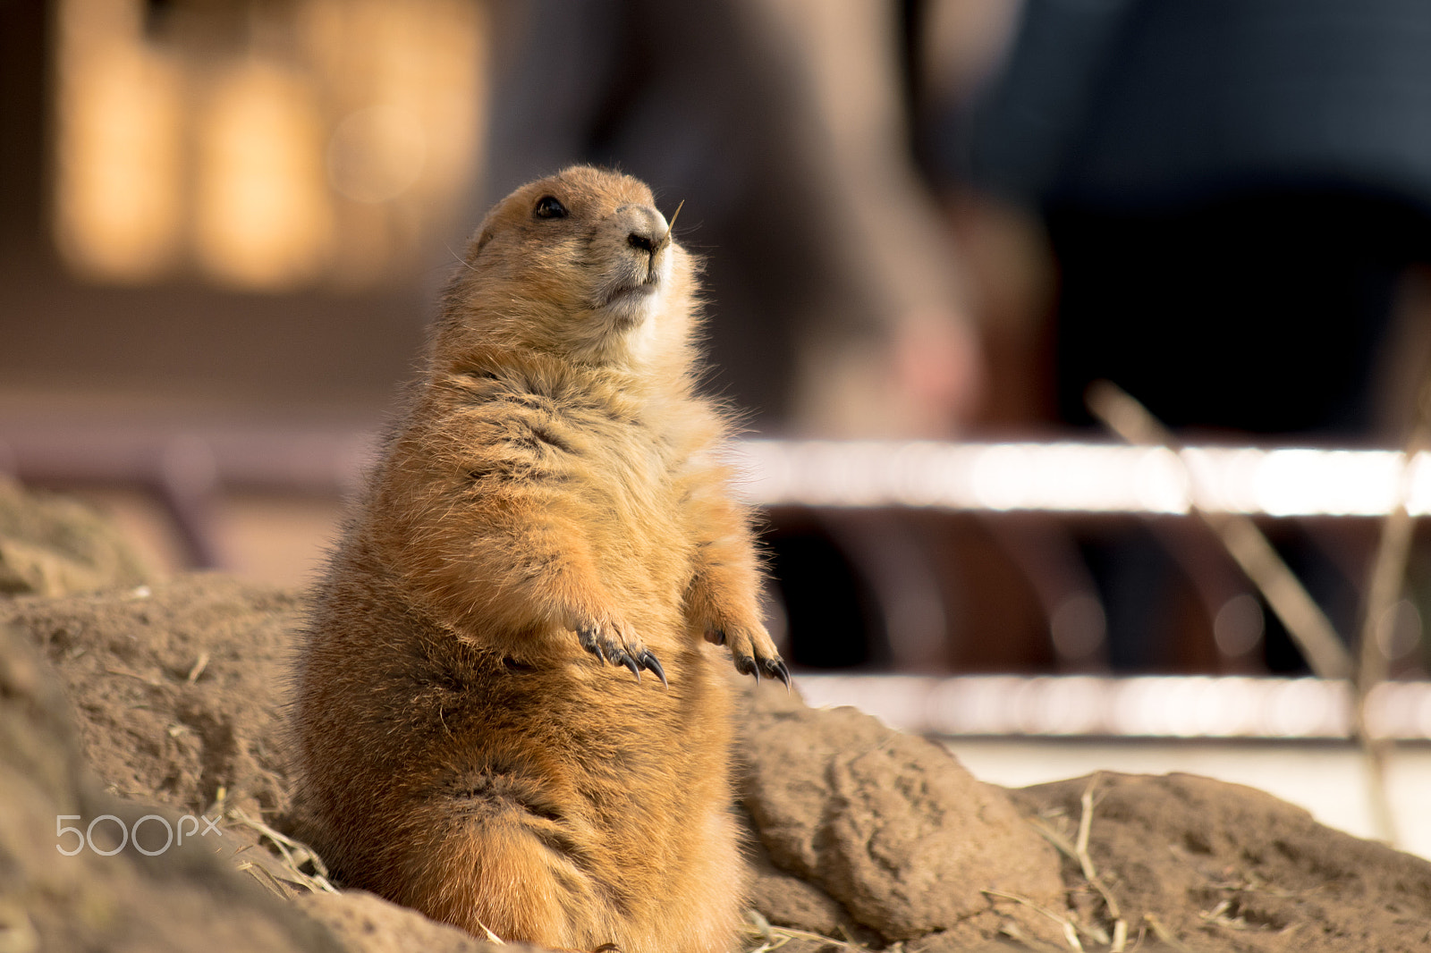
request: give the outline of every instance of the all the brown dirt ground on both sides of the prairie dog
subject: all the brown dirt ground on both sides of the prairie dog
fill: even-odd
[[[86,542],[92,515],[59,509],[0,514],[0,570],[33,582],[0,597],[0,950],[497,949],[342,891],[290,840],[301,595],[146,582],[102,521]],[[1431,863],[1262,791],[1109,773],[1007,791],[854,710],[743,691],[747,950],[1431,949]],[[103,814],[76,856],[56,850],[77,837],[57,817]],[[97,853],[145,816],[163,820]],[[159,850],[185,816],[215,834]]]

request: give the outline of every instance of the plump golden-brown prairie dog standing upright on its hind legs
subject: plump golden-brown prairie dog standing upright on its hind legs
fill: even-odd
[[[477,936],[734,947],[708,642],[788,674],[694,394],[694,293],[611,172],[522,186],[469,243],[298,667],[303,794],[348,884]]]

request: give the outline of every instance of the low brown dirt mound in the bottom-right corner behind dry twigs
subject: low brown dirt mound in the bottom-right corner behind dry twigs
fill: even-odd
[[[1125,922],[1193,949],[1274,953],[1431,950],[1431,864],[1322,827],[1271,794],[1193,774],[1098,774],[1015,791],[1033,821],[1076,840]],[[1078,863],[1075,906],[1109,924]]]

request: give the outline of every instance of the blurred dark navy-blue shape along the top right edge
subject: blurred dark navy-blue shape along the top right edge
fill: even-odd
[[[1168,210],[1229,193],[1431,200],[1418,0],[1029,0],[972,155],[999,195]]]

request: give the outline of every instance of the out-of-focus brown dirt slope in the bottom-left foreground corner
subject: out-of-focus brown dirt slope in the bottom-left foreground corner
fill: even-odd
[[[126,837],[116,850],[117,826],[133,830],[156,811],[83,783],[69,711],[30,645],[0,625],[0,949],[342,950],[318,923],[245,883],[200,840],[163,851],[163,841],[152,840],[149,857]],[[97,829],[84,824],[103,816]],[[56,837],[57,826],[73,818],[92,834],[77,850]],[[159,830],[157,820],[142,829]]]

